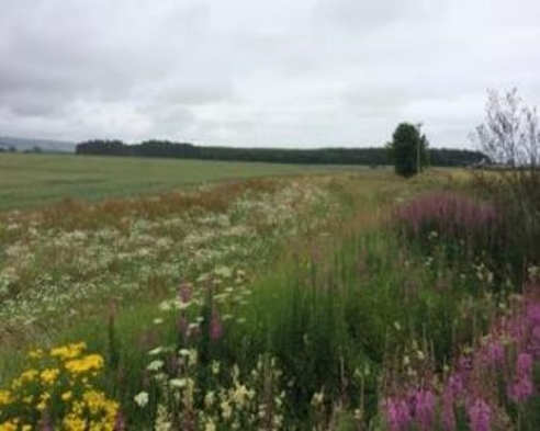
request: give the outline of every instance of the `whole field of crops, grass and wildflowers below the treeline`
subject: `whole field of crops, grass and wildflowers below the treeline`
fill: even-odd
[[[540,428],[540,270],[470,173],[16,157],[0,430]]]

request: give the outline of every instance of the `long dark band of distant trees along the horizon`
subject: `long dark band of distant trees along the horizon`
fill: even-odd
[[[201,147],[168,140],[146,140],[127,145],[121,140],[88,140],[78,144],[78,155],[165,157],[202,160],[263,161],[274,163],[390,165],[387,150],[381,148],[233,148]],[[462,149],[429,149],[430,163],[440,167],[469,166],[483,155]]]

